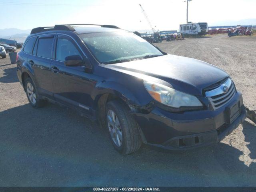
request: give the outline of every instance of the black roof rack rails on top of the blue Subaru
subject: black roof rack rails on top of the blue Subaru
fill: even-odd
[[[106,27],[106,28],[115,28],[115,29],[120,29],[117,26],[114,25],[99,25],[99,24],[64,24],[64,25],[55,25],[52,27],[37,27],[31,30],[30,34],[35,34],[39,32],[45,32],[45,31],[50,31],[50,30],[67,30],[67,31],[75,31],[74,25],[93,25],[93,26],[101,26],[101,27]]]

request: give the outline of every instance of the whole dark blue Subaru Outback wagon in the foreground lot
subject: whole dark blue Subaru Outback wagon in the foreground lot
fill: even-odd
[[[17,75],[34,108],[50,101],[98,120],[122,154],[142,143],[170,150],[214,144],[246,117],[226,72],[116,26],[34,28]]]

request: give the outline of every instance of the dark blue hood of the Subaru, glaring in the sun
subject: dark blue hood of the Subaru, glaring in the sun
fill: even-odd
[[[125,73],[132,72],[135,73],[135,76],[144,74],[158,78],[168,82],[177,90],[195,95],[201,95],[204,88],[228,77],[226,72],[216,66],[193,58],[171,54],[109,64],[106,67]]]

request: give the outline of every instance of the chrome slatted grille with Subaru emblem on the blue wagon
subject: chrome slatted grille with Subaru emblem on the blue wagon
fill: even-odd
[[[228,90],[226,90],[228,88]],[[230,78],[221,84],[218,88],[206,91],[205,95],[212,104],[214,110],[221,108],[229,102],[236,93],[235,86]]]

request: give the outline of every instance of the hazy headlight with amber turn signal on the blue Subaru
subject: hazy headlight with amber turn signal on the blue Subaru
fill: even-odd
[[[158,102],[174,107],[202,107],[202,103],[193,95],[177,91],[155,82],[143,81],[148,93]]]

